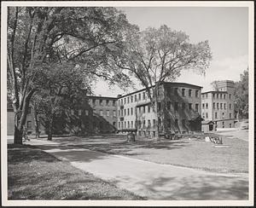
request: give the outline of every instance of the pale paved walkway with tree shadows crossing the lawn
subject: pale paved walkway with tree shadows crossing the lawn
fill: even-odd
[[[248,199],[247,174],[218,174],[32,139],[56,158],[147,199]]]

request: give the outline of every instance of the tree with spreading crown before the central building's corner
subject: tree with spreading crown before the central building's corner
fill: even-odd
[[[173,31],[168,26],[149,27],[143,32],[131,30],[119,54],[113,54],[113,62],[145,87],[157,118],[160,85],[175,80],[186,69],[204,73],[212,59],[208,41],[189,43],[185,32]],[[157,126],[159,129],[158,123]]]

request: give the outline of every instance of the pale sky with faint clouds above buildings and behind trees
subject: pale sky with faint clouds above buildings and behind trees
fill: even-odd
[[[248,66],[248,9],[242,7],[126,7],[117,8],[126,14],[131,24],[141,30],[148,26],[159,28],[166,25],[172,30],[189,35],[191,43],[208,40],[212,50],[212,61],[206,75],[199,75],[192,69],[185,71],[177,82],[196,84],[202,91],[212,90],[214,80],[240,79]],[[142,87],[137,84],[137,90]],[[104,81],[95,84],[95,95],[125,95],[132,89],[120,90],[118,86],[108,87]]]

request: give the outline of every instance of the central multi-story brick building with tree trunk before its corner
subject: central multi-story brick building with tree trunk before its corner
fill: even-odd
[[[118,130],[134,131],[138,136],[155,136],[158,127],[160,133],[201,130],[201,87],[185,83],[161,84],[157,111],[159,118],[145,89],[119,96]]]

